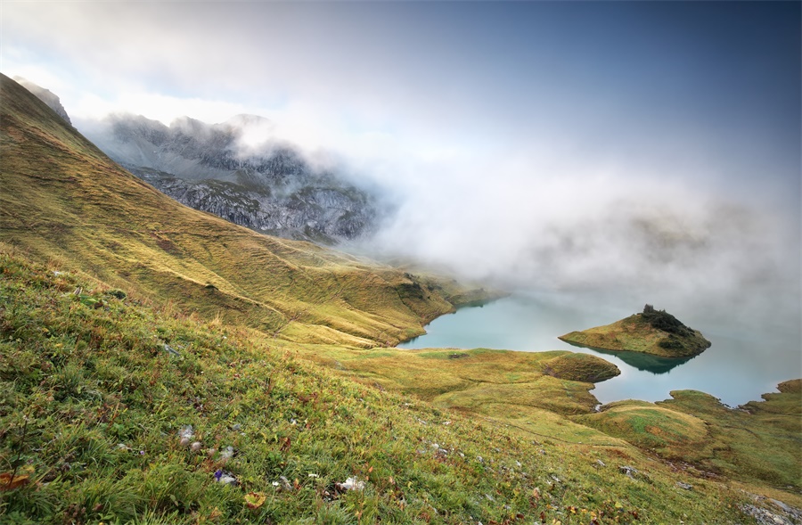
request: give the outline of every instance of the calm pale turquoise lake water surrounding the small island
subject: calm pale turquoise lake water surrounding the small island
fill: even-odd
[[[511,296],[438,317],[426,327],[426,335],[398,348],[571,350],[593,354],[621,370],[618,377],[596,385],[593,395],[601,403],[630,398],[660,401],[669,398],[671,390],[701,390],[726,405],[738,406],[776,391],[778,382],[802,376],[802,351],[798,334],[793,331],[786,335],[762,333],[759,327],[706,323],[677,314],[713,343],[700,356],[686,360],[582,349],[557,339],[564,333],[610,324],[634,313],[602,310],[600,313],[599,308],[566,304],[548,296]]]

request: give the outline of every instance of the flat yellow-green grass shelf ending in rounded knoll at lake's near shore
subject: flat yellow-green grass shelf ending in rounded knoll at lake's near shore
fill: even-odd
[[[498,403],[590,412],[597,403],[589,393],[592,381],[619,373],[599,357],[566,351],[298,348],[301,355],[382,388],[479,413],[487,412],[483,405]]]

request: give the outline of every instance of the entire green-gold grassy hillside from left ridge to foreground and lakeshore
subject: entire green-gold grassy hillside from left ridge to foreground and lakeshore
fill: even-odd
[[[185,208],[0,88],[0,522],[802,516],[799,381],[597,412],[599,357],[392,348],[487,292]]]

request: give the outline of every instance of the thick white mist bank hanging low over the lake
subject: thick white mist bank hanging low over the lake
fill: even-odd
[[[507,291],[799,331],[798,209],[683,177],[478,166],[385,179],[397,212],[364,249]]]

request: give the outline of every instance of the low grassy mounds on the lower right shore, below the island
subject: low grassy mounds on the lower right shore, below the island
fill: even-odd
[[[657,404],[620,401],[574,419],[671,461],[735,480],[802,493],[802,380],[732,409],[696,390]],[[797,496],[799,503],[800,498]]]

